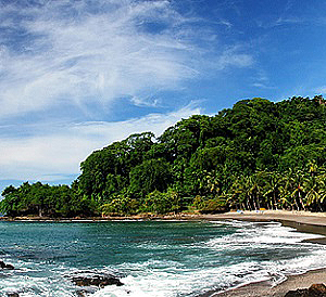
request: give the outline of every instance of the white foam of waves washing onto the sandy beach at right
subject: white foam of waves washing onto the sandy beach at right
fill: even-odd
[[[208,243],[195,244],[192,247],[202,248],[208,254],[210,250],[213,253],[221,250],[252,250],[255,253],[255,250],[263,251],[264,249],[279,250],[283,254],[288,248],[290,251],[298,250],[298,257],[291,255],[285,259],[262,261],[253,259],[240,263],[192,270],[187,270],[178,262],[148,261],[133,268],[128,267],[133,273],[122,280],[125,283],[124,287],[105,287],[95,296],[190,296],[190,292],[196,295],[196,293],[212,289],[214,286],[223,289],[228,286],[264,280],[271,280],[276,284],[284,281],[288,274],[317,269],[321,268],[321,263],[326,262],[325,246],[301,243],[302,240],[323,236],[299,233],[294,229],[283,227],[277,222],[228,221],[213,223],[220,227],[227,224],[238,230],[231,235],[213,238]],[[309,253],[305,253],[308,249]],[[126,268],[121,267],[121,269]]]

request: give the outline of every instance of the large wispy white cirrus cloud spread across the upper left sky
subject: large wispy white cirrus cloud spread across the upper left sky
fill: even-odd
[[[18,3],[2,3],[0,14],[1,117],[67,101],[80,107],[93,98],[148,104],[148,90],[180,88],[212,55],[188,26],[197,20],[181,16],[170,1]],[[227,50],[210,61],[243,67],[252,57]]]

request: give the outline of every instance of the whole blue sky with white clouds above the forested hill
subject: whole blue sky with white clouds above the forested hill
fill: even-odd
[[[326,93],[326,1],[0,0],[0,190],[242,99]]]

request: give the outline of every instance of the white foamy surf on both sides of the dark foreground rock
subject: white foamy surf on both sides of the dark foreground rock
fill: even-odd
[[[125,275],[121,279],[125,285],[106,286],[92,296],[196,296],[212,288],[225,289],[255,281],[272,280],[276,284],[288,274],[322,268],[326,262],[326,246],[301,243],[302,240],[318,235],[296,232],[277,222],[221,221],[211,225],[225,225],[226,231],[234,228],[235,232],[208,242],[178,245],[181,248],[179,253],[187,250],[183,257],[198,266],[188,267],[187,261],[158,259],[155,256],[143,262],[121,263],[113,268]],[[138,248],[167,249],[168,244],[140,243]],[[274,259],[271,255],[274,255]],[[68,264],[16,259],[8,262],[20,267],[20,270],[5,272],[8,277],[1,279],[0,295],[17,292],[20,296],[61,297],[74,296],[78,289],[65,276],[79,270]],[[93,272],[115,273],[110,266]]]

